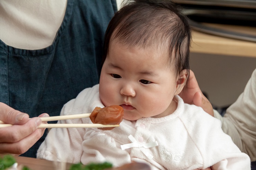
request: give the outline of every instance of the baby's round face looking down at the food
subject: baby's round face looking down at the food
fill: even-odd
[[[159,51],[110,43],[100,76],[104,106],[122,106],[124,119],[131,121],[171,114],[177,108],[173,97],[180,90],[174,72],[167,66],[167,51]]]

